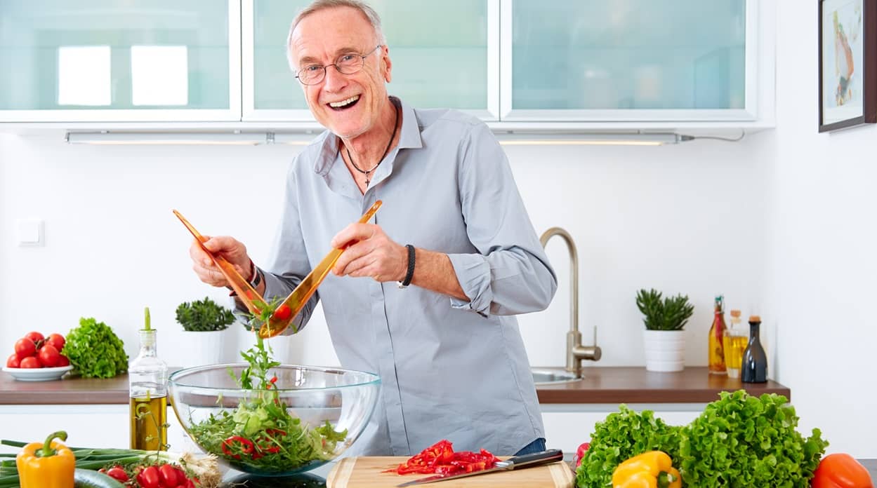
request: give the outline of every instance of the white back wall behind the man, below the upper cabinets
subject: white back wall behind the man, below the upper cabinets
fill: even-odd
[[[2,136],[0,343],[28,329],[75,327],[94,316],[118,330],[130,353],[149,306],[162,350],[180,346],[181,301],[225,294],[190,270],[190,237],[171,209],[205,234],[230,234],[256,261],[267,256],[296,149],[67,145],[45,137]],[[688,364],[706,364],[714,294],[729,307],[761,296],[763,206],[773,136],[742,143],[696,141],[630,148],[511,148],[510,161],[541,233],[558,225],[578,244],[581,330],[599,324],[598,365],[643,364],[639,287],[688,294]],[[256,190],[260,188],[260,190]],[[233,198],[230,198],[233,197]],[[239,204],[241,207],[236,208]],[[46,245],[20,247],[18,219],[45,221]],[[520,318],[531,363],[563,365],[569,327],[569,260],[548,244],[560,289],[553,305]],[[48,311],[42,311],[44,309]],[[34,310],[40,313],[34,316]],[[322,317],[310,323],[290,360],[335,364]],[[299,343],[303,343],[297,347]]]

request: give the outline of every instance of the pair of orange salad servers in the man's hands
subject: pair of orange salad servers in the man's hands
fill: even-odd
[[[371,220],[374,213],[381,208],[381,203],[380,200],[374,202],[374,205],[372,205],[372,207],[360,217],[358,222],[367,223]],[[225,279],[228,279],[229,284],[232,286],[235,293],[238,294],[238,298],[244,303],[246,309],[253,315],[260,315],[260,310],[267,307],[267,303],[261,295],[253,289],[253,286],[250,286],[246,279],[240,276],[239,272],[235,271],[234,266],[231,263],[226,261],[222,256],[214,256],[212,252],[204,247],[203,243],[207,238],[203,237],[197,230],[195,230],[195,228],[192,227],[192,224],[189,223],[180,212],[174,210],[174,214],[182,221],[182,224],[189,229],[189,232],[195,236],[195,240],[201,245],[201,249],[210,256],[210,259],[212,259],[214,264],[217,265],[219,271],[225,275]],[[350,244],[353,243],[348,243],[345,244],[344,247],[335,248],[332,249],[332,251],[329,251],[329,253],[326,254],[326,257],[304,277],[302,282],[296,286],[296,289],[286,297],[286,300],[282,301],[277,308],[275,308],[274,313],[268,318],[267,322],[262,324],[259,329],[259,335],[262,338],[267,339],[269,337],[277,336],[289,327],[289,324],[293,322],[296,315],[302,311],[304,305],[310,300],[310,297],[314,292],[317,291],[317,286],[320,286],[320,283],[323,282],[325,277],[329,274],[329,271],[332,270],[332,266],[338,262],[341,253],[343,253]]]

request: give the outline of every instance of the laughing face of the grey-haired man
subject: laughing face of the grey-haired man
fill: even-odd
[[[289,49],[296,69],[325,66],[346,53],[371,53],[358,73],[341,74],[329,66],[323,81],[303,85],[317,122],[340,138],[355,138],[372,129],[381,107],[387,103],[385,83],[390,79],[391,63],[387,48],[374,51],[377,45],[374,29],[365,15],[350,7],[310,14],[296,25],[290,38]]]

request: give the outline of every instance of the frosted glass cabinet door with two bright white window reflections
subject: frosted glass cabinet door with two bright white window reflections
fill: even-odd
[[[0,120],[239,120],[239,8],[3,0]]]

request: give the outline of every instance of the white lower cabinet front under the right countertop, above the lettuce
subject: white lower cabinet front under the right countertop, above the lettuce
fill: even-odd
[[[706,403],[651,403],[627,404],[637,412],[652,410],[655,417],[667,425],[687,425],[702,414]],[[575,454],[579,444],[590,441],[597,422],[618,411],[617,404],[541,404],[542,421],[545,424],[545,443],[549,449],[561,449],[565,454]]]

